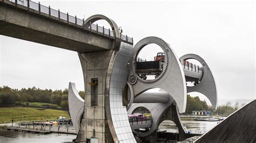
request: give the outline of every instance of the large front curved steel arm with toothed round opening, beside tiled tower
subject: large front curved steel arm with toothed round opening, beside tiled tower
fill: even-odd
[[[139,51],[148,44],[159,45],[165,53],[165,62],[163,71],[154,80],[143,80],[136,74],[136,59]],[[142,92],[152,89],[160,88],[170,94],[178,105],[179,112],[185,112],[187,102],[186,81],[183,68],[180,65],[179,58],[174,53],[173,49],[163,39],[158,37],[146,37],[140,40],[132,51],[132,68],[130,69],[130,75],[137,78],[136,83],[131,84],[134,91],[134,98],[142,94]],[[171,104],[171,103],[170,103]],[[170,106],[170,105],[166,105]]]

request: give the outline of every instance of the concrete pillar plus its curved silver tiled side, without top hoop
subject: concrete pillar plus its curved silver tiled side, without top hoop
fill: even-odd
[[[119,51],[78,54],[85,84],[84,116],[77,141],[91,138],[93,130],[99,142],[136,142],[122,104],[122,89],[129,74],[132,45],[121,43]],[[98,105],[93,105],[92,78],[98,78]],[[117,90],[118,89],[118,90]],[[119,103],[119,104],[117,104]]]

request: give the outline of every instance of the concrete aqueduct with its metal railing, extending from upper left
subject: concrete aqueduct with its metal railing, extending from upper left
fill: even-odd
[[[114,49],[116,38],[111,30],[93,24],[85,27],[82,19],[32,1],[16,2],[0,1],[1,35],[79,53]],[[120,40],[133,44],[124,35]]]

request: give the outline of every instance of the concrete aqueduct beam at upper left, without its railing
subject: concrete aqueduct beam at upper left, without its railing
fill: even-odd
[[[114,39],[67,24],[25,6],[0,1],[0,34],[80,53],[114,48]],[[7,4],[9,3],[9,4]]]

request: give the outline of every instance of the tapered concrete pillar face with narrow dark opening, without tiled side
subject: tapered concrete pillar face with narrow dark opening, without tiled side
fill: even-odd
[[[78,56],[84,75],[85,102],[84,114],[76,141],[85,141],[86,138],[91,138],[94,130],[95,138],[98,138],[99,142],[113,142],[107,125],[105,98],[109,96],[109,76],[113,67],[111,61],[116,57],[116,51],[79,53]],[[97,83],[93,84],[92,79],[97,79]],[[93,86],[97,86],[97,93],[92,91]]]

